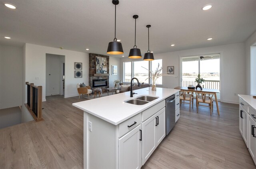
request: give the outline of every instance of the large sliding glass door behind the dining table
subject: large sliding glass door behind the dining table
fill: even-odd
[[[202,88],[220,90],[220,54],[182,57],[181,86],[196,86],[198,74],[205,80]],[[217,98],[220,99],[220,93],[217,93]]]

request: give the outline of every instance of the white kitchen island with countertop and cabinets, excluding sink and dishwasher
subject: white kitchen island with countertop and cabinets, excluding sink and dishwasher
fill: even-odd
[[[179,90],[142,88],[156,100],[134,105],[130,92],[74,103],[84,110],[84,169],[140,169],[165,137],[165,99]]]

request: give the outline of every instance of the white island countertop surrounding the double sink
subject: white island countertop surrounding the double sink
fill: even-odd
[[[133,97],[130,97],[130,92],[124,92],[77,102],[73,103],[72,105],[98,118],[110,122],[111,124],[118,125],[178,91],[180,90],[171,88],[157,88],[156,91],[151,91],[151,87],[148,87],[134,90],[134,92],[138,94],[134,94]],[[124,102],[125,100],[130,100],[140,95],[158,96],[159,98],[144,105],[134,105]]]

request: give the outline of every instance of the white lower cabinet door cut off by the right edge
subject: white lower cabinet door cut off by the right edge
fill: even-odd
[[[252,155],[254,163],[256,163],[256,122],[253,120],[252,116],[249,115],[249,151]]]

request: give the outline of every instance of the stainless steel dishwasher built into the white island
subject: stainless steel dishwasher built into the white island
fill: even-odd
[[[166,136],[170,133],[175,125],[175,94],[166,98]]]

